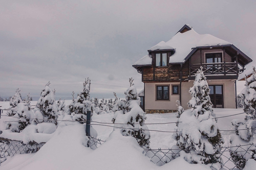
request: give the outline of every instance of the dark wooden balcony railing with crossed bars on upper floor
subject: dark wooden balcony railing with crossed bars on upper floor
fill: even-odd
[[[202,63],[189,65],[189,76],[194,76],[200,67],[203,68],[204,75],[239,75],[243,72],[235,62]]]

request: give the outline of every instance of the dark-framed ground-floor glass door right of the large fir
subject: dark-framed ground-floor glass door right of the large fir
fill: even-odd
[[[209,85],[210,101],[214,108],[224,108],[223,102],[223,85]]]

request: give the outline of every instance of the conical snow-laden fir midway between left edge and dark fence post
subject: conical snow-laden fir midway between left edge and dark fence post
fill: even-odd
[[[50,82],[41,91],[40,98],[34,109],[37,123],[54,122],[56,124],[56,119],[58,118],[57,105],[54,97],[55,90],[53,91],[49,85]]]

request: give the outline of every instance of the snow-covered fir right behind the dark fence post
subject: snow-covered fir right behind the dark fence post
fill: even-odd
[[[77,94],[77,98],[74,99],[73,92],[73,100],[69,105],[70,114],[73,116],[73,119],[78,121],[81,124],[86,123],[86,115],[87,111],[91,111],[93,113],[92,103],[90,102],[90,90],[89,90],[89,82],[90,79],[87,78],[83,83],[83,90]]]

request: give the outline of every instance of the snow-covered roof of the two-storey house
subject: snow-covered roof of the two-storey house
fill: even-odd
[[[152,51],[174,51],[174,54],[169,57],[169,63],[184,63],[191,55],[193,55],[198,48],[211,47],[211,46],[230,46],[232,53],[239,53],[238,62],[242,65],[246,65],[252,60],[241,52],[236,46],[228,41],[222,40],[210,34],[198,34],[191,26],[184,25],[182,29],[176,33],[172,39],[167,42],[161,41],[158,44],[151,47],[148,52]],[[151,55],[144,56],[142,59],[134,64],[137,70],[140,70],[138,65],[151,65]],[[136,66],[137,65],[137,66]]]

